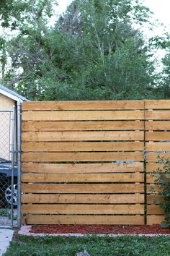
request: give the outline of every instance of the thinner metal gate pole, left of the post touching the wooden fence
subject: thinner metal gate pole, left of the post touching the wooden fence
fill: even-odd
[[[13,207],[13,195],[14,195],[14,140],[15,140],[15,106],[12,108],[12,144],[11,144],[11,157],[12,157],[12,201],[11,201],[11,225],[14,222],[14,207]]]

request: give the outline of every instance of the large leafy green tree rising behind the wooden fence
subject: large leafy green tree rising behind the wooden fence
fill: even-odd
[[[15,6],[22,12],[19,34],[9,43],[6,84],[39,100],[155,97],[150,46],[133,28],[148,22],[140,1],[76,0],[54,29],[48,27],[50,7],[50,0]]]

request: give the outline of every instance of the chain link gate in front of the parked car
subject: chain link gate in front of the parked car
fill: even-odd
[[[0,111],[0,226],[17,225],[16,111]]]

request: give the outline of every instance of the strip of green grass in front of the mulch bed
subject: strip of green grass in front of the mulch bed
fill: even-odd
[[[5,256],[73,256],[84,249],[91,256],[169,256],[170,237],[17,236]]]

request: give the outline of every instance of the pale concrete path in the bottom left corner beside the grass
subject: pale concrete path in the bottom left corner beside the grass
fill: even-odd
[[[12,229],[0,229],[0,256],[6,252],[9,242],[12,241],[14,231]]]

